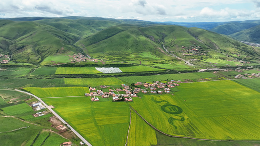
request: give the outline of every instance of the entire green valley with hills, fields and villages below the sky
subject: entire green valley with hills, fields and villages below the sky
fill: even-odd
[[[0,31],[5,146],[260,145],[259,46],[110,18],[0,19]]]

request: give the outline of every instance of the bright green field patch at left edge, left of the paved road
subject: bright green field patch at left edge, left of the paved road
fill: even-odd
[[[33,109],[26,103],[2,108],[2,110],[8,115],[17,115],[17,114],[33,111]]]

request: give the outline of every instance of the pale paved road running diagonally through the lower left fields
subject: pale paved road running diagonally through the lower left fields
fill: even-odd
[[[20,91],[15,89],[15,91],[19,91],[31,96],[34,96],[36,99],[38,99],[45,107],[47,107],[61,122],[63,122],[64,124],[67,124],[67,122],[65,120],[63,120],[54,110],[52,110],[47,104],[45,104],[39,97],[35,96],[34,94],[25,92],[25,91]],[[86,143],[86,145],[88,146],[92,146],[87,140],[85,140],[80,133],[78,133],[74,128],[72,128],[70,125],[67,125],[84,143]]]

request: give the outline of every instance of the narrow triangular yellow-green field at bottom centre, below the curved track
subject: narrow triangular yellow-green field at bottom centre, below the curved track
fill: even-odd
[[[128,146],[150,146],[156,144],[157,139],[155,130],[132,111]]]

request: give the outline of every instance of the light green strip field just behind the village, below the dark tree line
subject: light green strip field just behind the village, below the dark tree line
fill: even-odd
[[[100,86],[100,85],[121,85],[123,82],[115,77],[101,78],[64,78],[67,85],[78,86]]]

